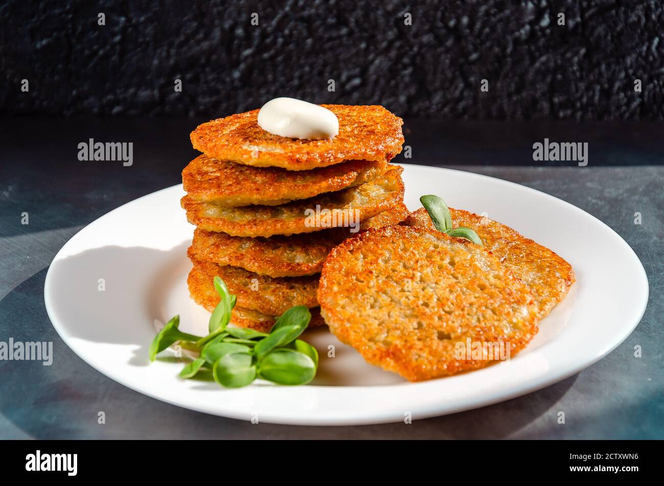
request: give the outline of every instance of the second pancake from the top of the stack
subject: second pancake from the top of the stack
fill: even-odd
[[[359,186],[383,175],[388,167],[390,165],[385,160],[352,160],[311,171],[293,172],[199,155],[182,171],[182,181],[185,191],[195,201],[220,206],[276,206]]]

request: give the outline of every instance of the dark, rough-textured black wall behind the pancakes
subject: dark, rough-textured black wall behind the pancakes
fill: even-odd
[[[661,0],[12,0],[0,14],[5,114],[216,117],[295,96],[401,116],[664,120]]]

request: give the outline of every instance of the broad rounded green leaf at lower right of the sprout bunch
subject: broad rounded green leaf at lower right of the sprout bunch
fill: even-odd
[[[307,384],[315,375],[313,359],[293,349],[275,349],[258,364],[258,376],[276,384]]]

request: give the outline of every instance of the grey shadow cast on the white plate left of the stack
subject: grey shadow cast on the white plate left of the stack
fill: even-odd
[[[55,262],[50,269],[52,317],[64,323],[72,338],[139,345],[136,354],[147,357],[153,322],[172,317],[163,303],[186,276],[188,245],[168,251],[104,246]]]

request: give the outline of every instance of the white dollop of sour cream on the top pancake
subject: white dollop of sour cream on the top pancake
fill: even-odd
[[[258,110],[258,126],[274,135],[319,140],[339,134],[339,119],[327,108],[295,98],[274,98]]]

